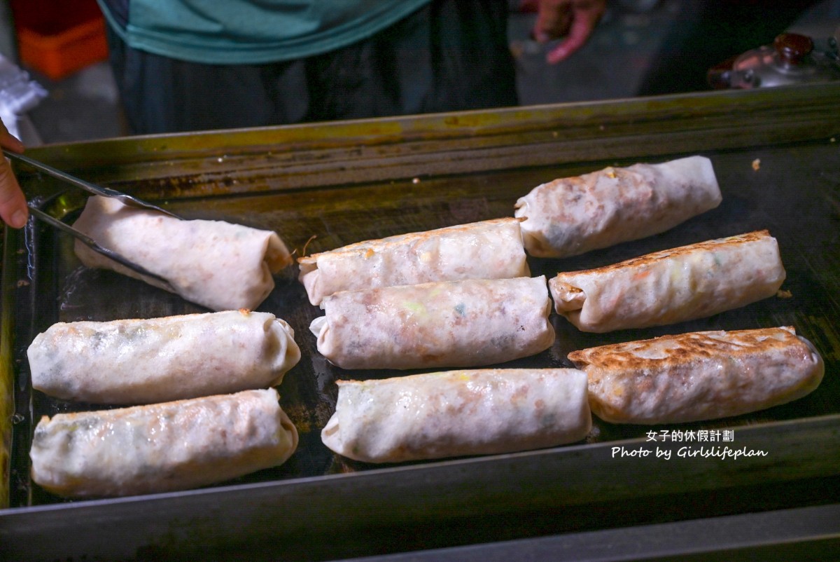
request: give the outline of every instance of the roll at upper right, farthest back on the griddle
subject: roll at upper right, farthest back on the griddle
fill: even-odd
[[[569,257],[659,234],[721,200],[711,161],[690,156],[543,183],[517,201],[514,215],[526,219],[529,254]]]

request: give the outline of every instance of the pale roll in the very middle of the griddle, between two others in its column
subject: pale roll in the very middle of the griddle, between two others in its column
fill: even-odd
[[[310,329],[342,368],[476,367],[554,342],[544,276],[342,291],[321,308]]]

